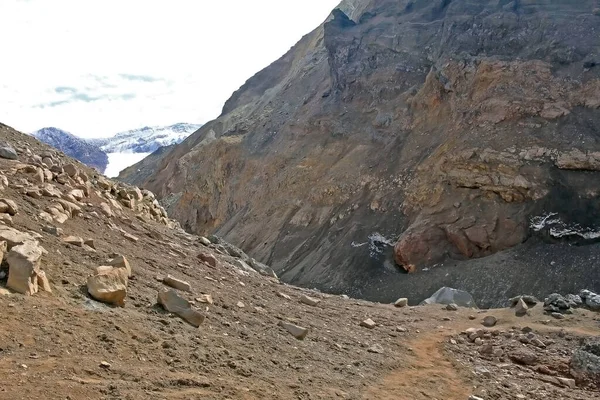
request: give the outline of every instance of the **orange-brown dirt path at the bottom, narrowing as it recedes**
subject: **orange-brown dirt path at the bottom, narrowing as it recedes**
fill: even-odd
[[[444,355],[445,333],[433,333],[409,343],[412,356],[406,366],[386,376],[371,388],[366,399],[381,400],[464,400],[471,385]]]

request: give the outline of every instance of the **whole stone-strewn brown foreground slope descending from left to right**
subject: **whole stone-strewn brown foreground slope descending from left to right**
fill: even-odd
[[[569,367],[580,342],[597,334],[597,313],[558,320],[541,306],[522,318],[508,309],[395,308],[288,286],[244,267],[243,254],[185,233],[148,192],[140,200],[136,188],[5,125],[0,144],[17,158],[0,158],[0,205],[14,206],[0,218],[0,236],[11,241],[0,267],[2,400],[600,398],[589,382],[575,384]],[[48,211],[57,204],[69,208],[66,219]],[[51,292],[5,287],[19,235],[45,249]],[[133,272],[124,306],[112,307],[91,298],[86,282],[119,254]],[[205,316],[200,327],[157,305],[167,275],[189,283],[177,293]],[[482,328],[490,315],[497,325]],[[281,321],[308,334],[297,340]],[[466,328],[483,344],[466,340]],[[522,330],[544,347],[517,340]],[[487,344],[493,355],[481,351]],[[535,363],[512,361],[525,350]]]

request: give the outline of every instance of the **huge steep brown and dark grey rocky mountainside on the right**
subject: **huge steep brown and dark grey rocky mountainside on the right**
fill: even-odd
[[[295,284],[389,301],[445,283],[488,304],[598,289],[599,10],[343,2],[121,179]]]

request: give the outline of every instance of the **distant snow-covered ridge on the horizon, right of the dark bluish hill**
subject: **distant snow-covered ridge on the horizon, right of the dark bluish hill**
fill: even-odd
[[[159,147],[179,144],[202,125],[179,123],[153,126],[117,133],[108,139],[95,140],[106,153],[152,153]]]

